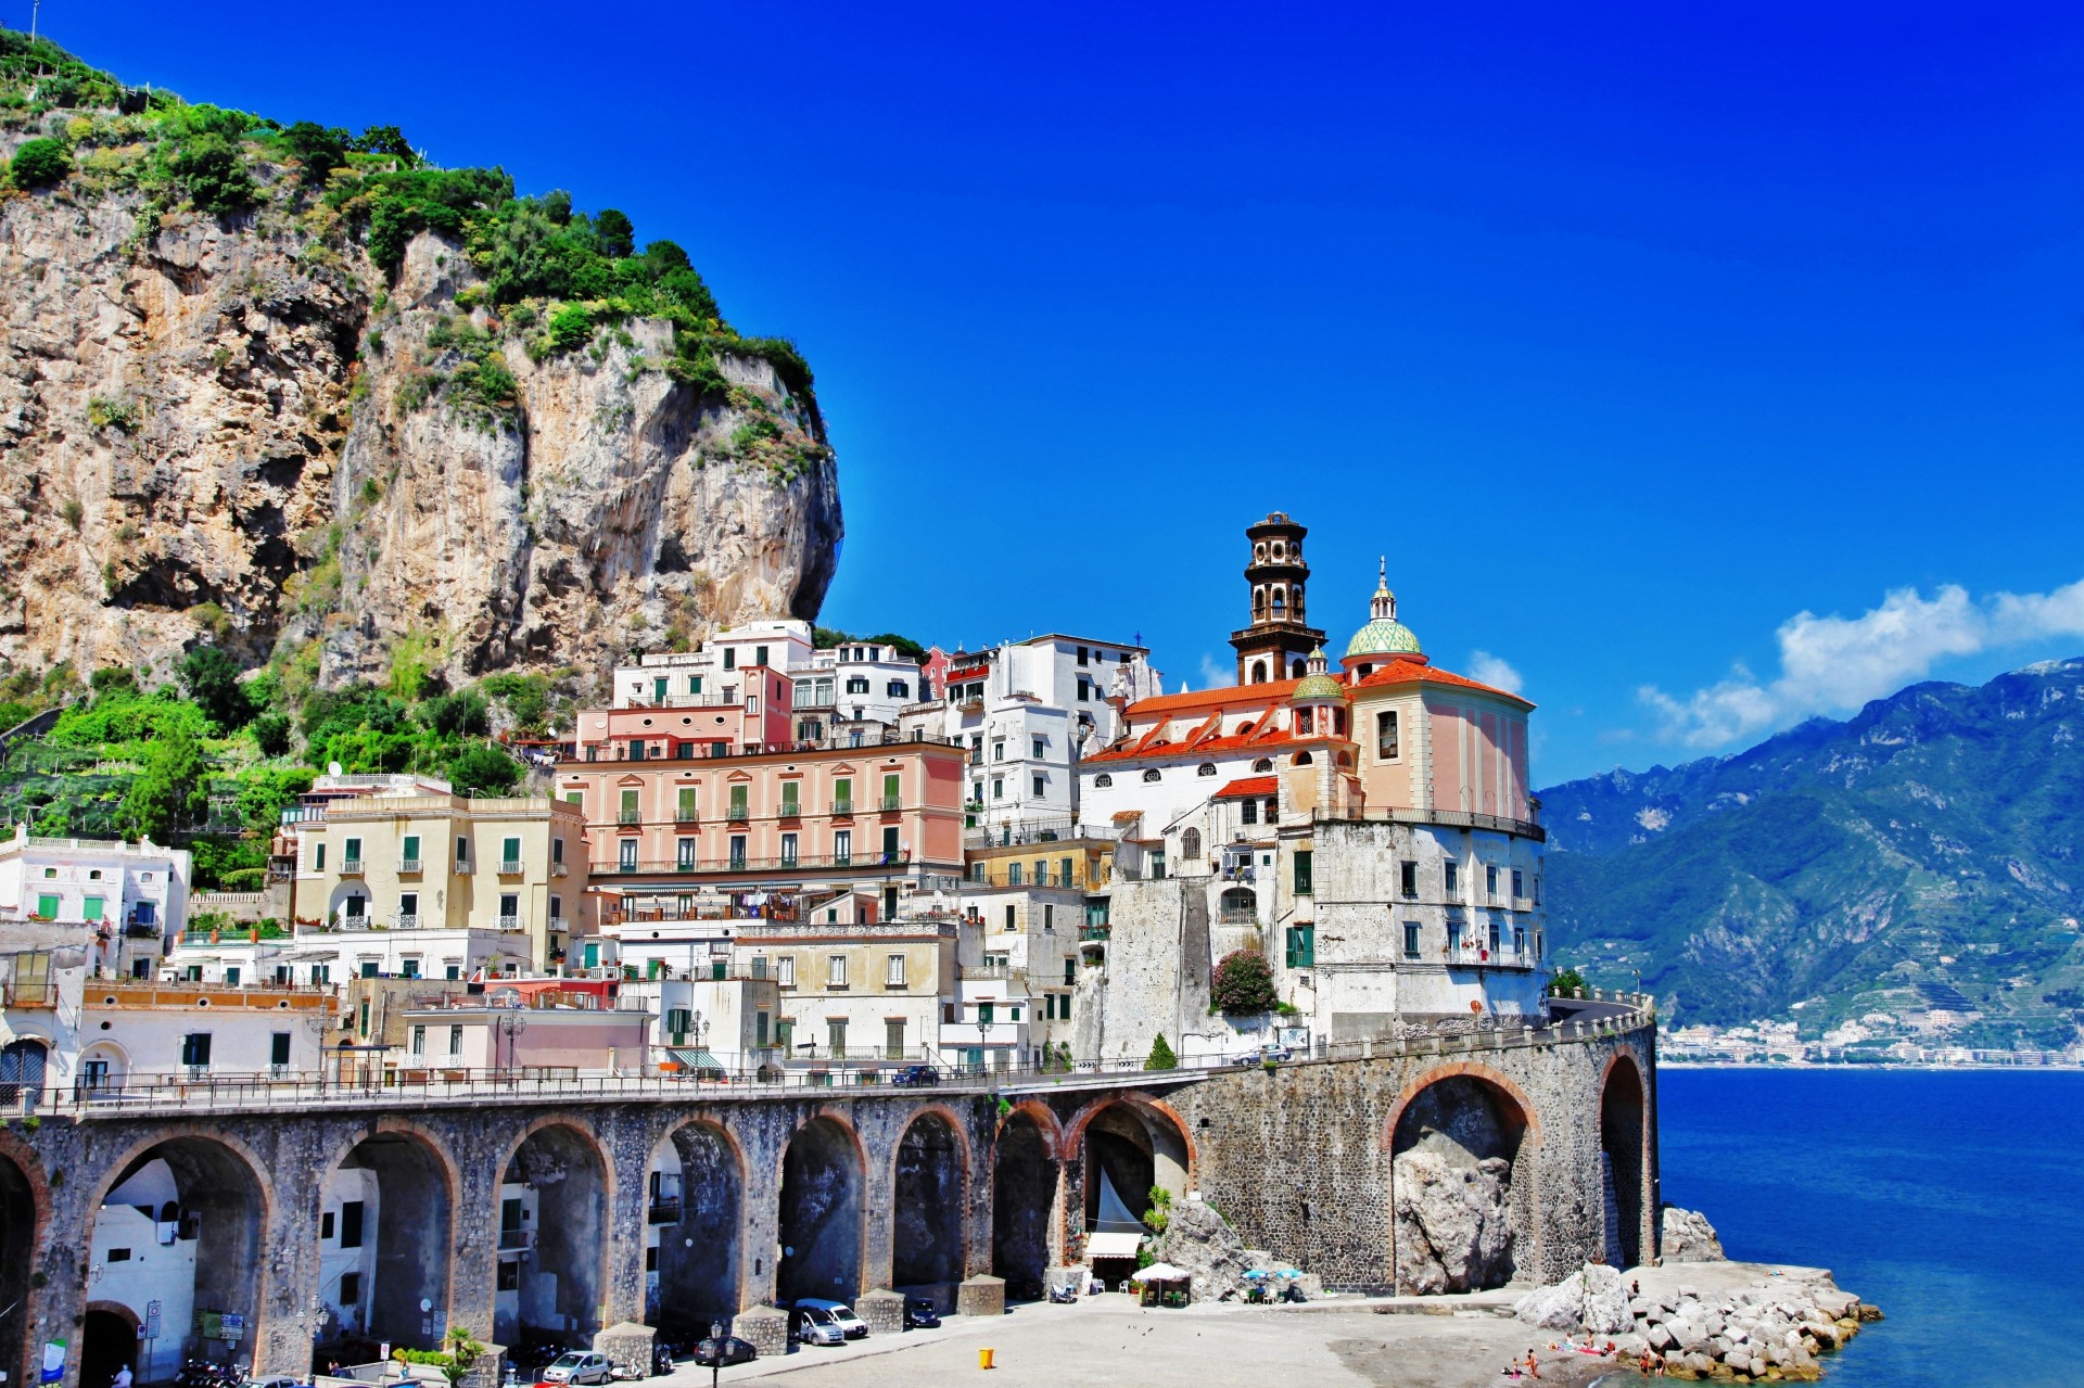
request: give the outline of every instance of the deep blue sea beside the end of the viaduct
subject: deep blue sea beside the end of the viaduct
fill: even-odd
[[[1888,1315],[1834,1388],[2084,1382],[2084,1073],[1667,1069],[1663,1198]]]

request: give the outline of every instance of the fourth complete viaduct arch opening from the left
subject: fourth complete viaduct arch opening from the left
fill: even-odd
[[[721,1127],[688,1123],[659,1144],[648,1182],[646,1319],[700,1340],[738,1315],[738,1150]]]

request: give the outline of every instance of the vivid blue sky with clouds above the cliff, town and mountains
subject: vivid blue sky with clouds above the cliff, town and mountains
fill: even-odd
[[[832,625],[1200,686],[1284,509],[1338,640],[1386,552],[1436,663],[1519,677],[1540,784],[2084,654],[2078,6],[42,23],[681,242],[817,369]]]

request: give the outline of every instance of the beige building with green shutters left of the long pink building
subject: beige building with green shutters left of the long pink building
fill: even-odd
[[[317,815],[298,834],[298,923],[523,932],[536,967],[565,950],[586,884],[577,807],[431,794],[338,800]]]

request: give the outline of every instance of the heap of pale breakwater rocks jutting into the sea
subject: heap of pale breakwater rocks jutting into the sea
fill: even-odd
[[[1763,1263],[1640,1267],[1626,1275],[1586,1265],[1528,1292],[1513,1313],[1542,1330],[1611,1340],[1621,1363],[1653,1355],[1667,1378],[1738,1384],[1821,1378],[1817,1355],[1882,1319],[1821,1267]]]

